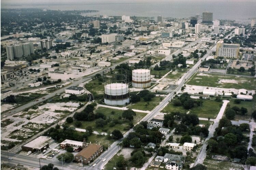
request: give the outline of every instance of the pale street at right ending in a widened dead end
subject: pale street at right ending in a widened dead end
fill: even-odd
[[[204,142],[204,144],[203,144],[203,146],[202,146],[202,148],[201,148],[201,150],[199,152],[199,155],[197,156],[197,158],[195,160],[194,166],[196,166],[197,164],[202,164],[203,163],[203,160],[206,157],[207,140],[209,140],[213,136],[213,133],[214,133],[215,129],[218,127],[219,120],[222,118],[228,102],[229,102],[228,100],[223,100],[222,107],[221,107],[221,109],[220,109],[216,119],[214,119],[213,125],[211,125],[210,128],[209,128],[210,129],[209,130],[209,135],[205,139],[205,142]]]

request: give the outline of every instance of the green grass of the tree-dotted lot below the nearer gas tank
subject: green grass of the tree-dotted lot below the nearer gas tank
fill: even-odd
[[[112,115],[111,112],[114,111],[115,113]],[[118,119],[119,116],[122,116],[123,110],[118,110],[118,109],[112,109],[112,108],[106,108],[106,107],[98,107],[95,111],[95,113],[100,112],[103,113],[106,118],[110,117],[111,119]],[[136,124],[141,120],[143,117],[145,117],[147,114],[146,113],[139,113],[136,112],[136,116],[133,117],[133,124]],[[127,130],[124,130],[126,126],[128,126],[129,122],[124,121],[122,124],[115,124],[113,127],[110,126],[110,124],[106,124],[103,127],[97,127],[96,126],[96,120],[93,121],[81,121],[82,126],[79,127],[81,129],[85,129],[87,126],[93,127],[94,131],[97,132],[106,132],[106,133],[111,133],[113,130],[118,129],[120,130],[123,134],[127,132]],[[71,123],[71,124],[74,124]]]

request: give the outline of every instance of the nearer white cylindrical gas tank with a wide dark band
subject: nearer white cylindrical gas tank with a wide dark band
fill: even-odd
[[[108,105],[125,105],[130,102],[129,88],[125,83],[104,86],[104,102]]]

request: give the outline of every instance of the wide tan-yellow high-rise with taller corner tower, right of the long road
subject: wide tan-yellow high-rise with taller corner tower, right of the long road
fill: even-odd
[[[216,44],[216,56],[224,58],[238,58],[239,44],[224,44],[223,40],[219,40]]]

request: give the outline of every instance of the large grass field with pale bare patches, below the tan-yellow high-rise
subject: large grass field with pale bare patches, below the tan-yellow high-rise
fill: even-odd
[[[210,73],[196,73],[187,84],[197,86],[235,88],[235,89],[256,89],[256,79],[240,77],[235,75],[222,75]]]

